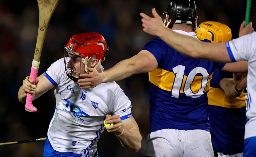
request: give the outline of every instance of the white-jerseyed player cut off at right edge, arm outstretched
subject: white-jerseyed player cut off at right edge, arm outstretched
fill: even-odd
[[[159,36],[167,44],[181,53],[192,58],[208,59],[220,62],[248,61],[247,90],[248,122],[245,125],[244,157],[256,154],[256,32],[252,22],[244,27],[241,24],[239,34],[247,34],[226,43],[203,43],[186,35],[178,34],[164,27],[161,17],[156,9],[152,9],[153,18],[144,13],[142,16],[143,31]],[[239,35],[240,36],[240,35]],[[240,89],[242,90],[242,89]]]

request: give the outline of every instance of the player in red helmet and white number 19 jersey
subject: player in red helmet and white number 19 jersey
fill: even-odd
[[[139,127],[132,117],[131,101],[118,84],[101,83],[83,90],[77,83],[79,75],[88,72],[86,67],[99,73],[104,71],[100,65],[108,52],[104,37],[98,33],[74,35],[64,51],[66,56],[38,76],[35,85],[27,76],[18,92],[19,101],[25,103],[27,93],[36,99],[56,86],[56,109],[49,125],[44,157],[98,156],[96,146],[105,129],[104,119],[107,124],[115,123],[106,130],[114,132],[125,148],[137,152],[141,147]]]

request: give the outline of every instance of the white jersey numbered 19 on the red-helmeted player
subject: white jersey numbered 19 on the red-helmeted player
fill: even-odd
[[[103,67],[102,67],[102,70]],[[55,86],[56,109],[47,136],[54,150],[93,155],[104,131],[107,114],[132,116],[131,101],[116,82],[82,90],[68,78],[64,58],[54,62],[44,76]]]

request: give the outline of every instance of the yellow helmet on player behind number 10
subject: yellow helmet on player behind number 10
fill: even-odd
[[[196,30],[196,36],[200,40],[208,39],[212,43],[227,42],[232,38],[230,28],[220,22],[206,21],[201,23]]]

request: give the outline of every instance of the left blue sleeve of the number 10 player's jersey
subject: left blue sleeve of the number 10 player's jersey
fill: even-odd
[[[153,40],[148,42],[142,48],[142,50],[147,50],[150,53],[152,53],[156,58],[158,65],[161,65],[163,62],[163,59],[166,58],[166,54],[167,54],[166,50],[168,50],[168,46],[166,45],[166,43],[164,43],[162,39],[154,38]]]

